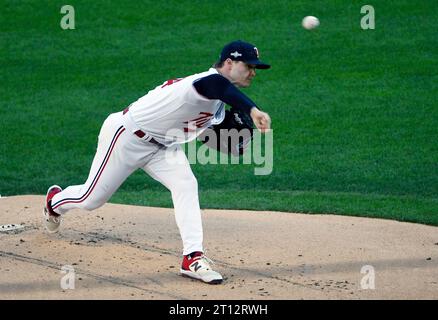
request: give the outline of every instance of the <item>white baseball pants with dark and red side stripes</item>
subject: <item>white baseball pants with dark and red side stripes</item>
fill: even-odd
[[[172,194],[183,254],[203,251],[198,183],[179,145],[160,147],[134,134],[139,128],[130,113],[111,114],[99,133],[87,181],[56,194],[52,208],[58,214],[71,209],[94,210],[105,204],[135,170],[142,168]]]

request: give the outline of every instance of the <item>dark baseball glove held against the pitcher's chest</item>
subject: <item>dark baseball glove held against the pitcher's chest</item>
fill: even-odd
[[[249,114],[231,108],[225,110],[225,119],[220,124],[206,129],[199,140],[212,149],[240,156],[252,140],[254,123]]]

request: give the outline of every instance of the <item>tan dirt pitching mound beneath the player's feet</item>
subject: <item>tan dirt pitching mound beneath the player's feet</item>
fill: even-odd
[[[24,226],[0,227],[0,299],[438,298],[437,227],[204,210],[206,254],[225,278],[212,286],[179,275],[172,209],[70,211],[50,235],[41,224],[43,202],[0,198],[0,225]]]

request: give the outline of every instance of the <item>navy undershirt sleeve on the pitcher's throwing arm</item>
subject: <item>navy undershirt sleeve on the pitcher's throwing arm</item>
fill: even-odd
[[[207,99],[218,99],[226,104],[250,113],[256,104],[220,74],[211,74],[193,83],[196,91]]]

